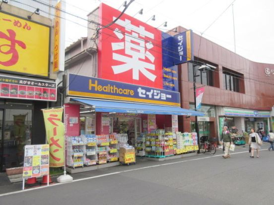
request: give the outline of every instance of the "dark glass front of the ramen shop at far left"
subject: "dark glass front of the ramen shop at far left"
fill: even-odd
[[[22,166],[32,129],[32,104],[8,103],[5,107],[0,109],[1,171]]]

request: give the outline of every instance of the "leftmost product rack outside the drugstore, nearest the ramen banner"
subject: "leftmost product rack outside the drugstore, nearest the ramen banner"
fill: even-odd
[[[67,165],[70,167],[84,166],[85,137],[67,137]]]

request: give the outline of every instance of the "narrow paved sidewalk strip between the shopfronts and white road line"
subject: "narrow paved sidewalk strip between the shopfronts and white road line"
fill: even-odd
[[[269,145],[264,143],[264,145],[261,148],[267,149],[268,147],[269,147]],[[236,146],[235,151],[236,152],[246,152],[246,151],[248,151],[248,146],[245,146],[245,147]],[[219,155],[219,154],[223,154],[223,152],[222,152],[222,149],[217,148],[216,154],[214,154],[214,155]],[[77,179],[93,177],[93,176],[98,176],[98,175],[103,175],[103,174],[108,174],[108,173],[113,173],[113,172],[139,169],[139,168],[148,167],[148,166],[155,166],[155,165],[160,165],[160,164],[165,164],[165,163],[170,163],[170,162],[184,161],[186,159],[203,158],[203,157],[208,157],[208,156],[213,156],[213,155],[210,153],[196,154],[196,155],[186,154],[186,156],[183,158],[170,159],[170,160],[165,160],[165,161],[151,161],[151,160],[148,160],[146,157],[137,157],[137,163],[135,165],[130,165],[130,166],[121,165],[121,166],[106,167],[106,168],[97,169],[97,170],[93,170],[93,171],[70,174],[70,176],[73,177],[73,180],[77,180]],[[51,176],[51,179],[54,183],[58,183],[57,182],[58,176],[59,175]],[[41,180],[42,179],[39,179],[38,181],[41,181]],[[36,187],[37,186],[39,186],[39,184],[37,184]],[[25,188],[29,188],[29,187],[27,185],[25,185]],[[22,181],[11,183],[5,172],[0,173],[0,194],[20,191],[21,189],[22,189]]]

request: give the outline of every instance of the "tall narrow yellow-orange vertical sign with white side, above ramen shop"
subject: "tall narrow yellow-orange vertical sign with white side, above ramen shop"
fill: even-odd
[[[55,6],[53,56],[54,72],[64,71],[65,69],[65,6],[66,1],[61,2],[61,0]]]

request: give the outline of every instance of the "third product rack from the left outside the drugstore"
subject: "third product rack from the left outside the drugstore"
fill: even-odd
[[[109,136],[96,135],[98,164],[106,164],[108,160]]]

